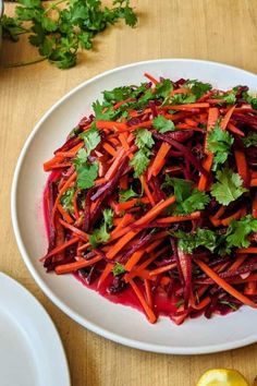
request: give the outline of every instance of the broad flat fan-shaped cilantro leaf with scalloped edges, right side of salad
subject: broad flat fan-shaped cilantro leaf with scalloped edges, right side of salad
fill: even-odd
[[[216,173],[218,182],[211,185],[211,195],[221,205],[229,205],[238,198],[244,192],[243,180],[240,174],[234,173],[231,169],[224,168]]]

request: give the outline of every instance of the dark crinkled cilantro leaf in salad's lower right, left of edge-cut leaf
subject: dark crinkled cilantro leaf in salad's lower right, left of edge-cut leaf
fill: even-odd
[[[192,254],[198,246],[213,252],[217,246],[217,234],[209,229],[197,228],[194,233],[179,230],[173,236],[179,239],[178,248],[185,253]]]

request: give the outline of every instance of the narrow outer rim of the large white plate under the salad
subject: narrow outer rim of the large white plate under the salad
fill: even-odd
[[[23,261],[25,262],[25,265],[27,266],[30,275],[33,276],[34,280],[37,282],[39,288],[44,291],[44,293],[49,298],[50,301],[54,305],[57,305],[62,312],[64,312],[69,317],[71,317],[73,321],[77,322],[81,324],[83,327],[91,330],[93,333],[102,336],[107,339],[110,339],[114,342],[121,343],[123,346],[127,346],[131,348],[139,349],[143,351],[149,351],[149,352],[157,352],[157,353],[169,353],[169,354],[205,354],[205,353],[213,353],[213,352],[221,352],[221,351],[227,351],[231,349],[236,349],[241,347],[245,347],[252,343],[257,342],[257,333],[255,335],[250,335],[247,338],[238,339],[233,342],[224,342],[224,343],[219,343],[219,345],[209,345],[209,346],[203,346],[203,347],[171,347],[171,346],[164,346],[164,345],[156,345],[156,343],[148,343],[144,342],[137,339],[132,339],[132,338],[126,338],[123,336],[120,336],[119,334],[112,333],[111,330],[100,327],[99,325],[91,323],[84,317],[82,317],[77,312],[73,311],[70,309],[65,303],[63,303],[58,295],[54,294],[54,292],[46,285],[46,282],[40,278],[39,274],[37,270],[34,268],[30,258],[28,257],[28,254],[26,252],[26,248],[23,243],[22,236],[19,229],[19,224],[17,224],[17,208],[16,208],[16,195],[17,195],[17,181],[19,181],[19,176],[21,172],[21,167],[24,160],[24,157],[26,155],[26,152],[34,138],[34,136],[37,134],[37,132],[40,129],[40,125],[44,123],[45,120],[66,99],[69,99],[73,94],[77,93],[81,88],[86,87],[87,85],[105,79],[105,76],[126,70],[128,68],[137,67],[137,65],[147,65],[147,64],[152,64],[152,63],[159,63],[159,62],[194,62],[194,63],[199,63],[199,64],[210,64],[215,65],[217,68],[227,68],[233,71],[240,71],[242,73],[245,73],[246,75],[254,75],[256,76],[255,73],[250,71],[243,70],[241,68],[221,63],[221,62],[216,62],[216,61],[208,61],[208,60],[201,60],[201,59],[189,59],[189,58],[163,58],[163,59],[152,59],[152,60],[146,60],[146,61],[137,61],[137,62],[132,62],[125,65],[120,65],[115,67],[113,69],[110,69],[108,71],[101,72],[100,74],[97,74],[93,77],[90,77],[87,81],[82,82],[74,88],[72,88],[70,92],[65,93],[60,99],[58,99],[44,114],[42,117],[37,121],[35,124],[34,129],[27,136],[22,150],[19,155],[16,167],[14,170],[13,174],[13,180],[12,180],[12,186],[11,186],[11,218],[12,218],[12,226],[13,226],[13,231],[16,240],[16,244],[19,246],[19,251],[22,255]]]

